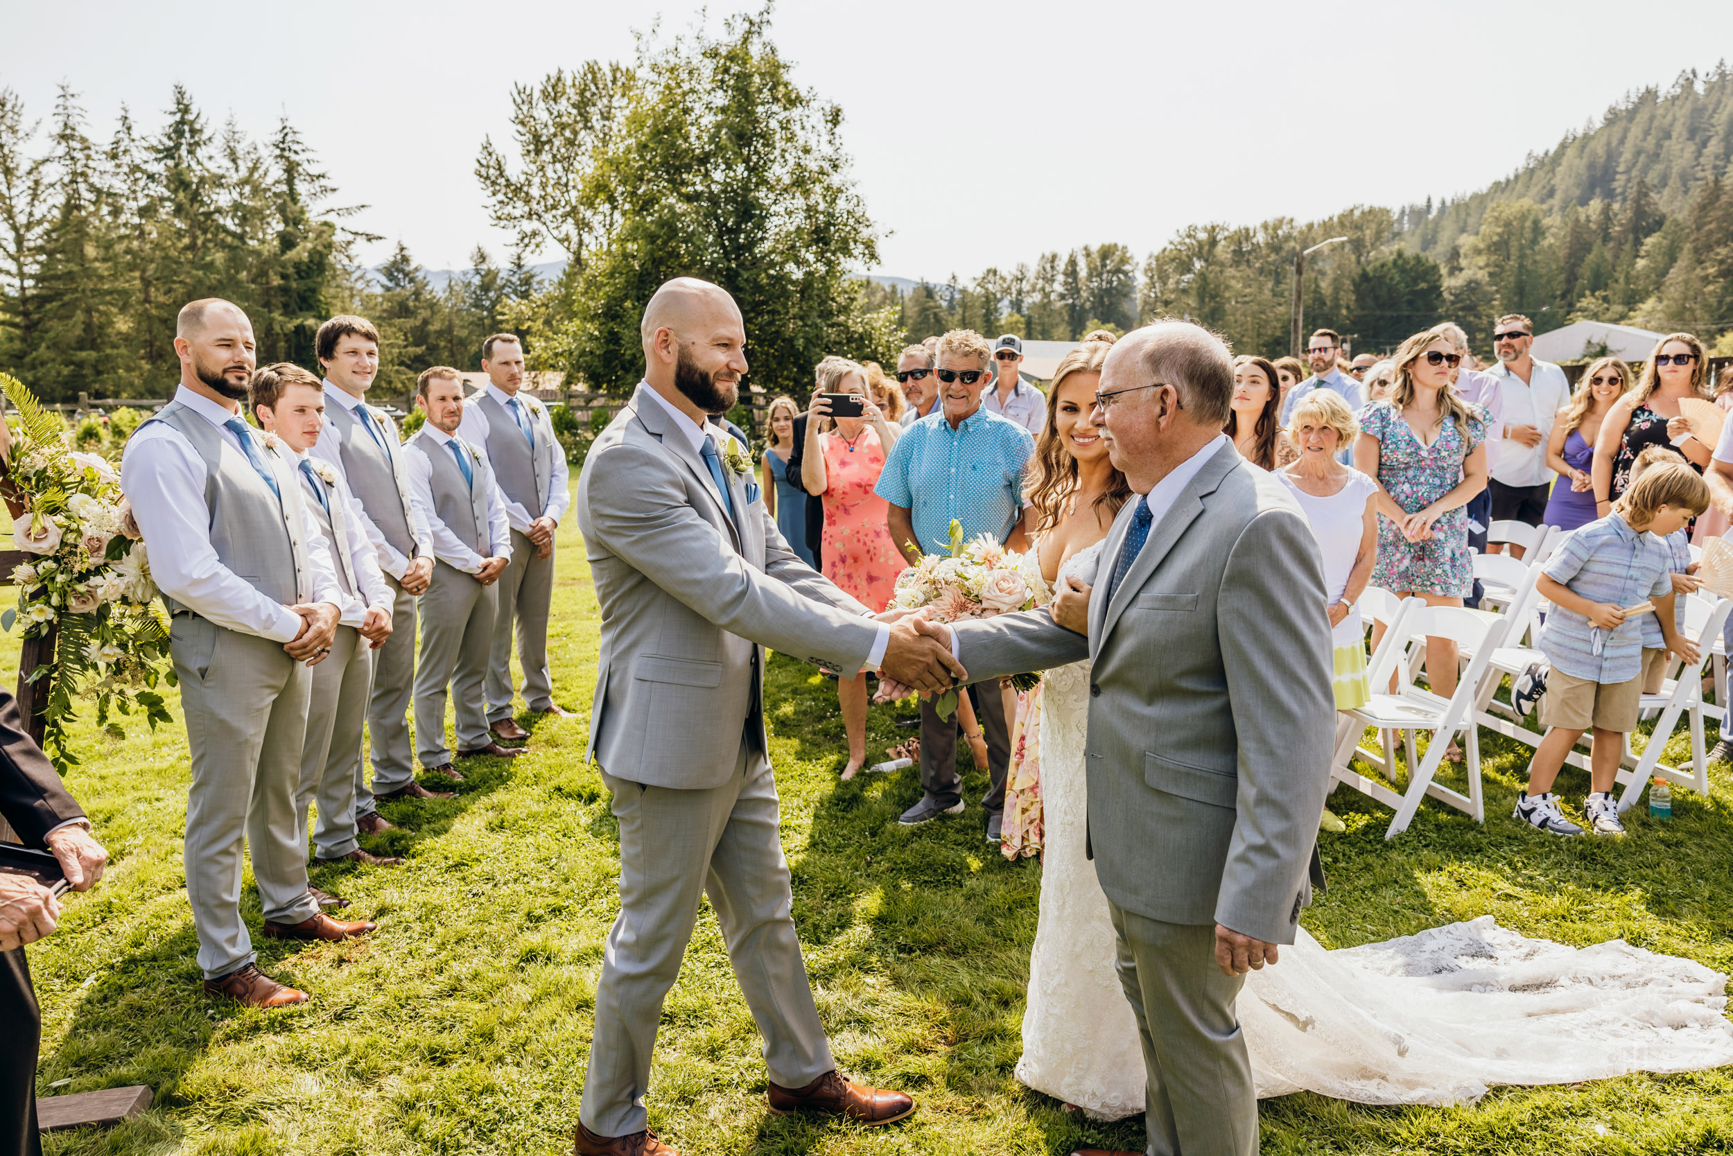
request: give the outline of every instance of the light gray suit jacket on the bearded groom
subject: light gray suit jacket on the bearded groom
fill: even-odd
[[[752,475],[737,527],[704,459],[639,385],[577,478],[577,525],[601,605],[589,750],[615,778],[702,790],[764,750],[761,646],[858,671],[879,627],[776,532]],[[750,499],[750,501],[749,501]]]

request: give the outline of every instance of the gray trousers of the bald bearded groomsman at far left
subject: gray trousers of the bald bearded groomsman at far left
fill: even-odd
[[[307,842],[295,820],[312,671],[282,643],[208,619],[175,615],[168,640],[192,752],[187,899],[199,967],[217,979],[253,962],[241,919],[243,846],[253,853],[265,919],[298,924],[319,912],[307,894]]]

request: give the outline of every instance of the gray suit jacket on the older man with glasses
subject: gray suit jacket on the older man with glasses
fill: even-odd
[[[969,678],[1094,659],[1088,837],[1121,908],[1293,943],[1336,728],[1317,542],[1223,445],[1149,530],[1109,605],[1135,504],[1100,553],[1088,638],[1047,610],[953,627]]]

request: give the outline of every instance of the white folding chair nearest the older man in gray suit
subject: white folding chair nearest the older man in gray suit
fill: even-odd
[[[1459,648],[1471,652],[1473,657],[1457,678],[1456,693],[1444,698],[1414,683],[1412,676],[1407,674],[1407,671],[1402,669],[1402,664],[1397,662],[1397,657],[1402,653],[1402,646],[1392,643],[1388,650],[1379,648],[1383,652],[1379,655],[1381,660],[1376,662],[1369,672],[1373,679],[1373,700],[1364,707],[1343,711],[1343,714],[1348,716],[1350,724],[1347,728],[1338,728],[1336,756],[1331,763],[1331,775],[1338,782],[1343,782],[1348,787],[1353,787],[1355,790],[1395,809],[1395,816],[1390,820],[1390,828],[1385,830],[1385,839],[1395,839],[1400,832],[1407,830],[1407,825],[1414,820],[1414,813],[1419,811],[1421,799],[1426,796],[1471,815],[1477,823],[1485,822],[1480,783],[1480,728],[1475,724],[1475,695],[1480,692],[1487,660],[1504,640],[1506,629],[1509,629],[1509,622],[1504,615],[1489,614],[1485,610],[1468,610],[1464,607],[1405,607],[1399,622],[1392,624],[1388,634],[1449,638]],[[1390,685],[1392,672],[1402,676],[1402,685],[1397,688],[1397,693],[1383,690]],[[1348,770],[1348,763],[1355,754],[1376,763],[1376,756],[1373,752],[1359,747],[1359,735],[1362,735],[1367,726],[1374,726],[1381,731],[1404,731],[1404,738],[1411,752],[1407,792],[1397,794],[1385,783]],[[1347,733],[1343,733],[1343,730]],[[1428,731],[1431,735],[1431,742],[1426,745],[1425,759],[1416,764],[1412,750],[1414,737],[1419,731]],[[1457,731],[1463,733],[1463,752],[1468,763],[1466,796],[1433,782],[1433,776],[1438,773],[1438,766],[1444,763],[1444,754],[1451,745],[1451,738],[1454,738]]]

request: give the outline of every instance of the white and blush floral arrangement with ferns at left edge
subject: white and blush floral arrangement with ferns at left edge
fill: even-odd
[[[0,374],[0,388],[19,416],[10,484],[23,511],[14,516],[12,544],[38,556],[14,567],[17,607],[0,614],[0,627],[23,622],[26,638],[55,638],[54,664],[38,666],[29,679],[50,679],[43,749],[64,775],[78,764],[66,747],[76,698],[95,698],[97,726],[114,737],[125,731],[111,711],[132,714],[139,705],[153,728],[170,721],[154,690],[159,679],[175,678],[161,669],[168,631],[114,466],[76,451],[61,419],[16,378]]]

